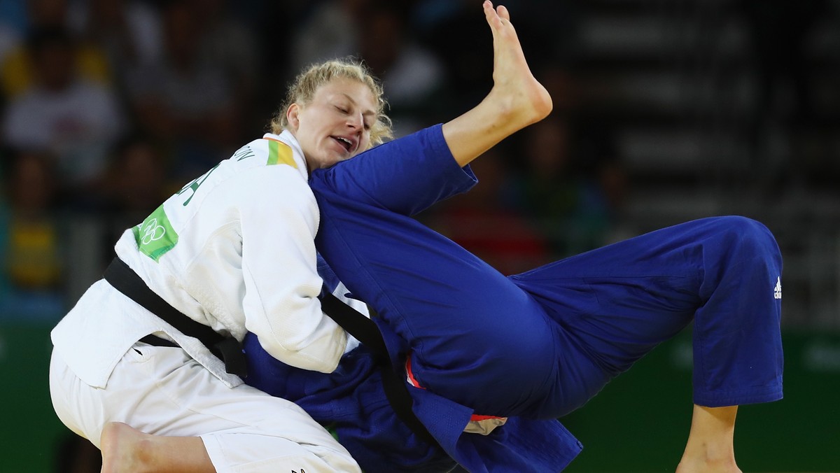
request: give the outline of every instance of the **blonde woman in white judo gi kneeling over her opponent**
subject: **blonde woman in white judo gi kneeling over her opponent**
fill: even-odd
[[[327,81],[330,102],[301,113],[297,138],[286,131],[245,145],[126,230],[115,250],[184,318],[239,341],[256,334],[278,360],[327,373],[354,345],[318,300],[308,172],[380,143],[390,123],[381,87],[363,68],[336,63],[322,74],[308,87]],[[244,385],[205,344],[108,281],[95,282],[51,338],[55,413],[106,451],[105,471],[141,470],[108,457],[120,454],[117,444],[108,449],[122,426],[115,422],[197,446],[176,444],[156,470],[359,470],[300,407]]]

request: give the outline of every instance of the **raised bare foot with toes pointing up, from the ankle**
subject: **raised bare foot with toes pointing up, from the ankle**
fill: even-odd
[[[493,89],[488,98],[498,100],[514,123],[524,128],[551,113],[551,96],[528,67],[507,8],[493,8],[490,0],[483,7],[493,33]]]

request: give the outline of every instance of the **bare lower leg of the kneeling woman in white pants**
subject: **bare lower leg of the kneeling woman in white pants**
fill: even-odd
[[[124,423],[102,429],[102,473],[215,473],[200,437],[144,434]]]

